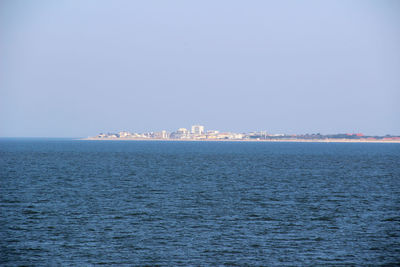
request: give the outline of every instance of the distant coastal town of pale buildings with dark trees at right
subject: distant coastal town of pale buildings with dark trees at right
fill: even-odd
[[[122,131],[118,133],[99,134],[89,139],[154,139],[154,140],[355,140],[355,141],[400,141],[399,136],[364,136],[361,133],[345,134],[269,134],[265,131],[249,133],[219,132],[216,130],[205,130],[203,125],[193,125],[190,129],[179,128],[174,132],[166,130],[160,132],[132,133]]]

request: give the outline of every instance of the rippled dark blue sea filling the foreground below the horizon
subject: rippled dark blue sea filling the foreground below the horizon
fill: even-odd
[[[0,139],[0,265],[399,265],[400,144]]]

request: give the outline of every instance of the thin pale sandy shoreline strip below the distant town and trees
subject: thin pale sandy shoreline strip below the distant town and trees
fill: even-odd
[[[279,139],[279,140],[242,140],[242,139],[156,139],[156,138],[81,138],[81,141],[178,141],[178,142],[285,142],[285,143],[387,143],[400,144],[400,140],[365,140],[365,139]]]

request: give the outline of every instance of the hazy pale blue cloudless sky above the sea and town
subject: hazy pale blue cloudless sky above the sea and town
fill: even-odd
[[[400,135],[400,1],[0,0],[0,136]]]

